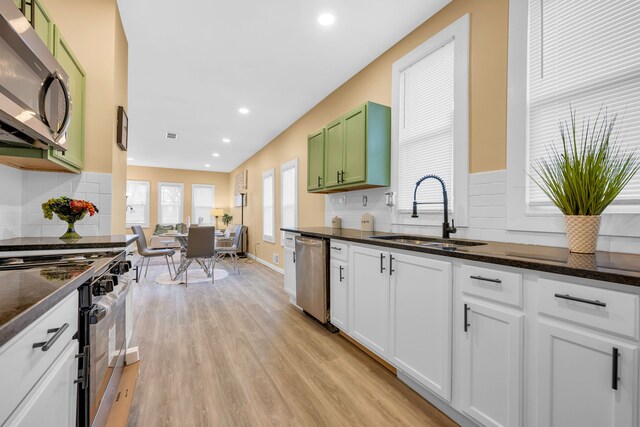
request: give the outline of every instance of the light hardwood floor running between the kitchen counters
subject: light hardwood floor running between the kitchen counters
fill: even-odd
[[[228,263],[220,267],[231,271]],[[129,426],[452,426],[353,344],[291,306],[260,264],[210,283],[134,285]]]

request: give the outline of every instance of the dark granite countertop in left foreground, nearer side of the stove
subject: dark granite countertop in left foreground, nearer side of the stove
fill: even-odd
[[[90,263],[0,272],[0,346],[93,276]]]

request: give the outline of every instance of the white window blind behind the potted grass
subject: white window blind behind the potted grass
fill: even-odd
[[[604,106],[617,114],[621,145],[640,148],[639,1],[530,0],[528,40],[530,174],[550,144],[561,146],[559,122],[569,120],[570,105],[578,131]],[[527,187],[530,206],[551,205],[530,179]],[[640,174],[614,203],[640,203]]]

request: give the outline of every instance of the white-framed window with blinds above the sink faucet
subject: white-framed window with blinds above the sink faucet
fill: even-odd
[[[393,65],[393,151],[397,210],[412,209],[416,182],[437,175],[449,209],[466,223],[469,145],[469,16],[465,15]],[[442,188],[425,181],[423,212],[441,212]],[[441,214],[438,214],[441,215]]]

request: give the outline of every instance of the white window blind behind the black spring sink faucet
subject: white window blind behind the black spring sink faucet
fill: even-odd
[[[415,183],[440,176],[453,203],[454,40],[404,69],[399,85],[398,209],[412,208]],[[420,202],[441,202],[440,184],[425,181]],[[422,205],[420,210],[442,210]]]

